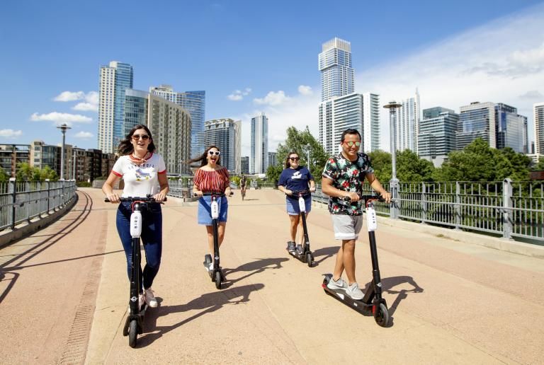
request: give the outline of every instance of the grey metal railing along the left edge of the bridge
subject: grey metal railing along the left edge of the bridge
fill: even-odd
[[[64,207],[76,188],[72,180],[0,182],[0,231]]]

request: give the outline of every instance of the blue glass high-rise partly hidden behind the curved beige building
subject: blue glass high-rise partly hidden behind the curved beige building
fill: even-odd
[[[206,107],[205,91],[174,91],[170,85],[149,88],[149,93],[159,95],[166,100],[181,105],[191,115],[191,156],[196,157],[204,152],[204,121]]]

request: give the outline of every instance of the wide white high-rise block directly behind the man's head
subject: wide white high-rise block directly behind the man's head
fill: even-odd
[[[319,142],[328,154],[338,151],[342,133],[357,129],[361,133],[361,151],[380,148],[380,96],[351,93],[319,103]]]

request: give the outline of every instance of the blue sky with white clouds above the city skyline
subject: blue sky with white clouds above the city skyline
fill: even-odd
[[[382,104],[419,88],[423,108],[544,101],[542,1],[9,1],[0,13],[0,143],[96,148],[98,69],[134,67],[134,87],[205,90],[206,119],[270,118],[317,137],[323,42],[351,42],[356,91]],[[237,92],[238,91],[238,92]],[[229,98],[230,95],[230,98]],[[56,100],[55,100],[56,99]],[[67,101],[60,101],[67,100]],[[75,115],[75,116],[74,116]],[[388,149],[382,114],[382,149]],[[532,133],[532,129],[531,132]]]

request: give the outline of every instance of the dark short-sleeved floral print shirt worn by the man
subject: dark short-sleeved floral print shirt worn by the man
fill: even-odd
[[[373,173],[370,166],[370,158],[365,153],[357,153],[357,161],[351,162],[341,153],[327,160],[322,176],[332,180],[332,186],[346,192],[358,192],[361,194],[367,173]],[[348,216],[360,216],[363,214],[361,205],[363,202],[346,202],[339,197],[329,197],[329,212],[331,214],[346,214]]]

